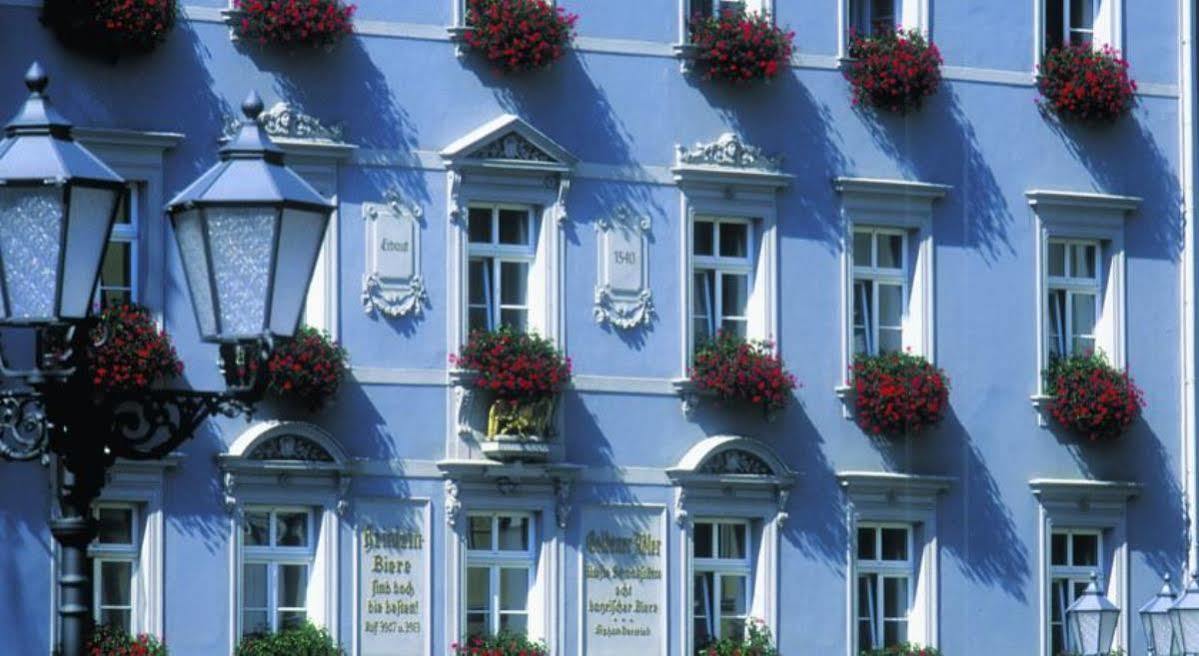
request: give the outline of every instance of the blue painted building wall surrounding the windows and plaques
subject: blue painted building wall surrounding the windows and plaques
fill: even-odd
[[[759,88],[729,90],[683,77],[669,56],[676,40],[671,0],[564,2],[582,13],[580,37],[639,41],[637,53],[573,52],[550,71],[501,77],[482,62],[454,58],[445,40],[357,36],[331,53],[275,54],[231,43],[211,19],[222,0],[191,2],[201,19],[185,20],[146,58],[96,62],[70,54],[37,23],[37,11],[0,4],[0,108],[23,97],[31,59],[52,72],[52,95],[78,125],[181,132],[165,157],[168,193],[215,161],[222,119],[248,89],[294,103],[345,126],[362,151],[400,156],[435,152],[502,113],[514,113],[582,161],[665,167],[676,144],[741,133],[782,154],[795,176],[778,197],[779,342],[802,387],[772,423],[700,409],[682,416],[667,395],[570,393],[565,402],[571,462],[589,468],[665,468],[706,435],[731,432],[764,440],[800,474],[781,546],[784,654],[842,654],[844,508],[835,473],[888,470],[952,476],[940,507],[942,567],[940,643],[948,655],[1034,654],[1037,645],[1037,504],[1034,477],[1093,477],[1145,486],[1129,506],[1131,598],[1146,600],[1158,576],[1183,559],[1181,504],[1181,384],[1179,344],[1181,218],[1180,103],[1176,2],[1139,0],[1126,11],[1126,46],[1134,76],[1158,85],[1132,116],[1103,128],[1056,127],[1043,119],[1029,83],[990,79],[987,71],[1032,70],[1029,2],[933,2],[934,38],[951,76],[927,107],[906,119],[857,113],[840,73],[795,68]],[[1131,4],[1131,2],[1127,2]],[[360,2],[360,26],[403,32],[411,24],[451,20],[450,0]],[[777,16],[797,34],[801,55],[836,56],[833,2],[777,0]],[[368,23],[370,22],[370,23]],[[378,22],[378,23],[374,23]],[[605,42],[611,46],[611,42]],[[994,76],[993,76],[994,77]],[[1161,89],[1164,86],[1164,90]],[[839,199],[833,176],[899,177],[951,185],[934,205],[938,363],[952,379],[952,410],[930,434],[879,443],[842,416],[833,387],[840,380]],[[338,329],[356,367],[447,367],[446,176],[444,171],[351,162],[338,173],[341,308]],[[427,217],[423,269],[430,307],[418,320],[368,318],[359,303],[363,263],[361,204],[399,187]],[[1145,390],[1144,419],[1117,444],[1078,449],[1038,428],[1029,395],[1036,380],[1032,312],[1035,222],[1024,192],[1060,188],[1144,198],[1129,219],[1127,330],[1132,374]],[[679,191],[665,185],[576,181],[570,198],[565,269],[566,348],[583,375],[670,379],[683,374],[680,307]],[[658,319],[621,335],[595,324],[591,300],[596,243],[592,222],[621,203],[652,216],[650,279]],[[164,313],[188,380],[216,389],[211,348],[200,345],[171,242]],[[313,421],[354,458],[436,461],[447,433],[445,390],[351,383],[338,404]],[[213,457],[243,428],[240,421],[205,428],[168,475],[165,489],[165,632],[174,654],[218,654],[228,644],[225,618],[228,517],[219,504]],[[404,492],[429,496],[440,513],[436,481],[363,479],[355,494]],[[30,493],[29,491],[36,491]],[[583,486],[576,501],[620,491]],[[627,492],[627,491],[626,491]],[[637,498],[668,504],[668,488],[639,488]],[[49,650],[50,538],[46,474],[6,465],[0,476],[0,634],[23,652]],[[435,514],[433,525],[445,523]],[[573,530],[577,530],[577,526]],[[576,535],[572,532],[571,535]],[[351,554],[343,536],[343,554]],[[671,550],[673,553],[673,550]],[[434,549],[435,570],[444,568]],[[573,555],[567,555],[571,562]],[[349,638],[350,558],[343,558],[342,626]],[[572,597],[573,598],[573,597]],[[434,633],[444,636],[444,603],[434,600]],[[568,614],[568,618],[574,616]],[[671,621],[675,613],[671,610]],[[673,627],[673,631],[681,631]],[[567,622],[567,644],[578,639]],[[7,639],[7,638],[6,638]],[[13,644],[11,642],[6,644]],[[16,649],[16,648],[14,648]],[[438,651],[441,652],[441,651]],[[1133,630],[1133,654],[1141,654]]]

